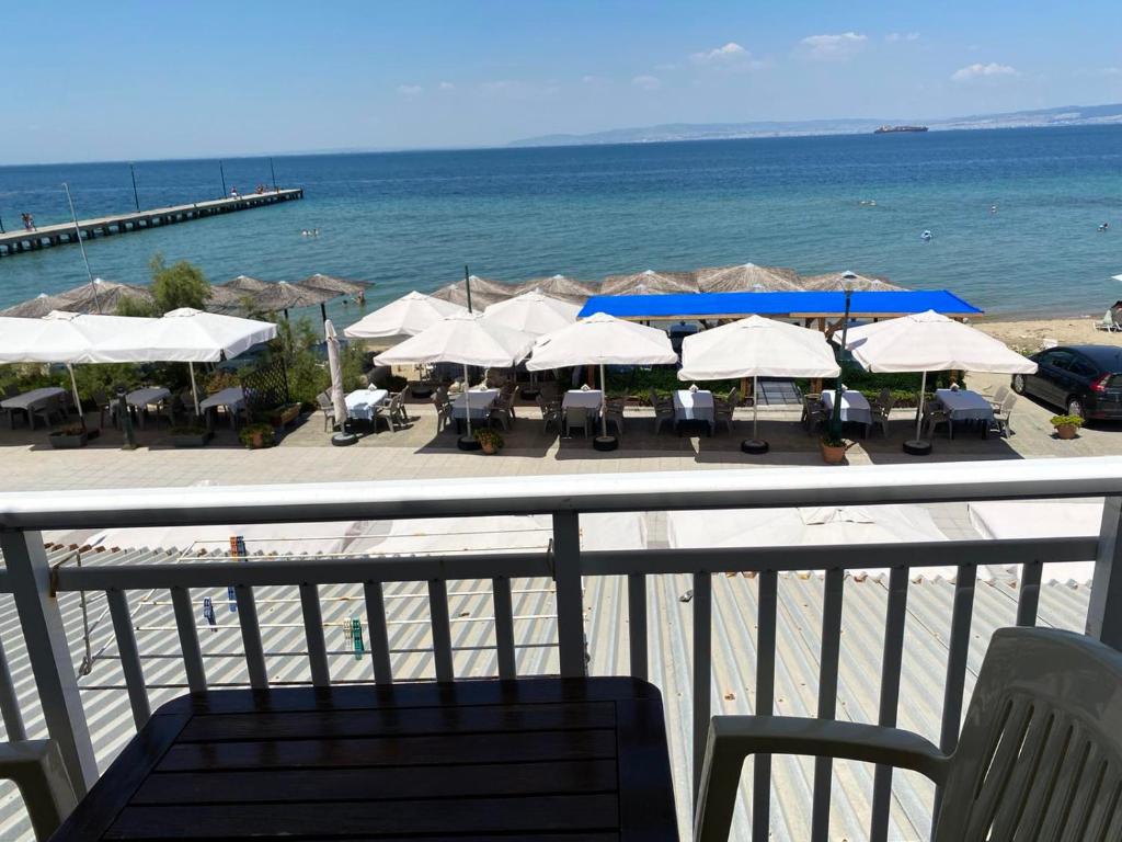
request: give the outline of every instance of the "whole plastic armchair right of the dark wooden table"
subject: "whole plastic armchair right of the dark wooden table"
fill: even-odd
[[[715,716],[693,839],[728,839],[744,760],[756,754],[838,758],[917,771],[942,793],[934,842],[1118,839],[1120,683],[1122,653],[1092,638],[1054,629],[999,629],[949,756],[919,734],[894,727]]]

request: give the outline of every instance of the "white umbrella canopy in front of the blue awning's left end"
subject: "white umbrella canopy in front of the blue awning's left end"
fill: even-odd
[[[579,365],[654,365],[677,363],[670,337],[657,328],[594,313],[546,333],[534,344],[526,368],[564,368]]]

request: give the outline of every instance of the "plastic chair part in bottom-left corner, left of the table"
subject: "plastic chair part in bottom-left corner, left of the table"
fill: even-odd
[[[19,787],[39,842],[45,842],[77,804],[63,757],[50,740],[0,743],[0,779]]]

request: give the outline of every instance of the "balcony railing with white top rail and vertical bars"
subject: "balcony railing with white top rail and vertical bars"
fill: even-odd
[[[604,512],[652,512],[693,509],[766,509],[776,506],[875,505],[981,500],[1031,500],[1104,496],[1097,539],[966,540],[950,542],[847,547],[756,549],[646,549],[582,551],[580,519]],[[104,527],[286,523],[416,518],[472,518],[496,514],[550,514],[552,543],[546,552],[468,552],[415,557],[332,556],[324,559],[255,558],[248,564],[181,561],[174,565],[58,566],[52,568],[40,530]],[[113,493],[0,495],[0,548],[4,569],[0,593],[15,596],[22,635],[52,739],[62,749],[80,789],[98,776],[94,749],[79,696],[70,642],[58,606],[59,594],[103,592],[112,620],[125,683],[137,727],[150,715],[146,686],[127,601],[136,591],[169,596],[187,686],[208,687],[199,643],[197,607],[192,592],[232,587],[249,684],[269,680],[255,602],[255,589],[296,586],[306,637],[312,683],[331,681],[321,617],[321,586],[352,583],[364,588],[369,629],[370,675],[389,683],[393,674],[386,632],[383,585],[423,582],[427,586],[431,640],[438,680],[457,678],[450,631],[448,583],[489,579],[494,605],[497,677],[515,678],[515,626],[511,580],[550,577],[555,583],[560,672],[586,670],[582,578],[626,577],[629,671],[646,678],[647,593],[651,577],[692,576],[691,633],[693,794],[711,712],[711,663],[715,635],[712,577],[724,573],[757,575],[754,712],[775,706],[776,593],[779,574],[820,570],[825,576],[817,715],[836,716],[843,582],[847,570],[889,568],[888,610],[880,684],[879,722],[894,725],[900,696],[909,575],[912,567],[954,565],[958,576],[950,617],[949,657],[944,681],[941,748],[953,750],[960,725],[971,639],[975,571],[980,565],[1020,565],[1017,622],[1036,622],[1042,567],[1049,562],[1095,559],[1086,633],[1122,648],[1122,458],[1055,459],[1019,463],[939,464],[871,468],[784,468],[774,470],[625,474],[471,481],[339,483],[325,485],[145,489]],[[664,688],[666,690],[668,688]],[[9,739],[24,734],[11,676],[0,651],[0,712]],[[815,767],[812,839],[828,836],[831,765]],[[753,839],[766,840],[770,761],[757,761],[753,777]],[[875,774],[868,838],[886,839],[892,774]],[[680,793],[679,798],[686,794]]]

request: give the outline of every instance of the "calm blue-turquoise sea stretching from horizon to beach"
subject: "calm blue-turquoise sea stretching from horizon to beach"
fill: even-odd
[[[1122,127],[293,156],[275,167],[303,201],[94,240],[94,274],[144,283],[163,251],[213,282],[374,281],[370,306],[459,280],[465,264],[517,281],[752,260],[883,274],[993,313],[1101,312],[1122,298],[1110,280],[1122,273]],[[243,193],[270,181],[268,159],[224,171]],[[141,208],[222,192],[217,161],[141,163],[136,176]],[[63,221],[63,181],[80,217],[132,210],[127,164],[0,167],[4,226],[22,211]],[[0,305],[84,280],[74,246],[0,258]]]

